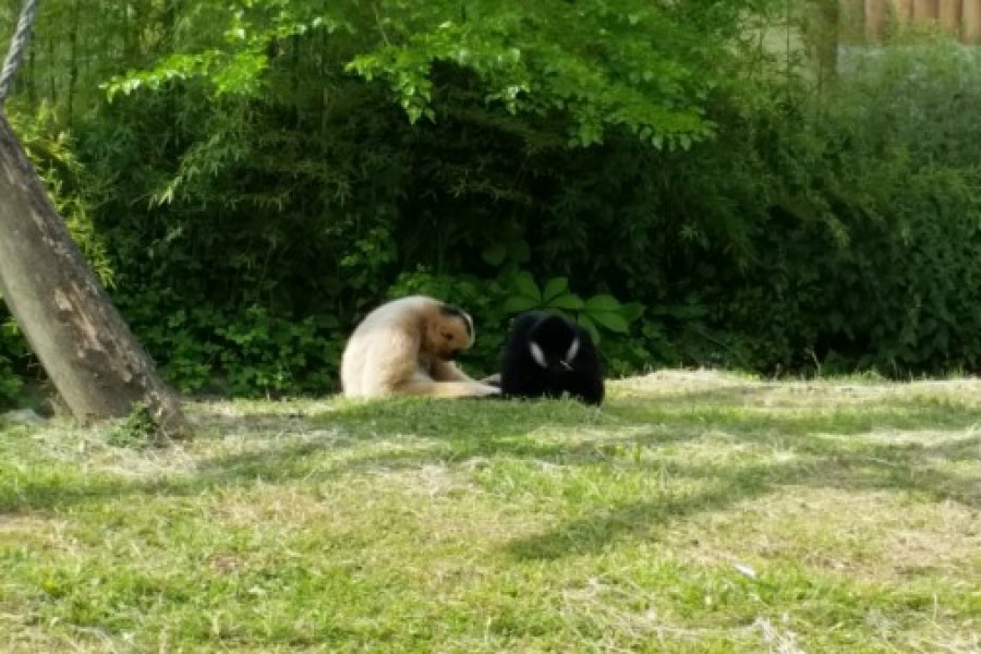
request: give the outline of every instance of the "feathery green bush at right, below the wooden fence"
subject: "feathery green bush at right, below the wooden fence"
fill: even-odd
[[[973,370],[981,197],[967,117],[981,58],[946,46],[856,57],[820,116],[766,133],[765,165],[783,179],[734,324],[763,327],[750,356],[770,366]]]

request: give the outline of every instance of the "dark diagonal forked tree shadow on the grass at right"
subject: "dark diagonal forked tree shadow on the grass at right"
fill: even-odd
[[[779,425],[761,422],[759,429],[740,433],[737,443],[784,440]],[[930,431],[933,431],[930,427]],[[695,493],[665,494],[593,511],[541,534],[517,538],[506,546],[518,559],[556,559],[601,552],[625,538],[657,538],[659,530],[692,514],[725,510],[736,504],[778,491],[811,486],[855,492],[886,491],[915,494],[934,502],[955,501],[981,509],[981,476],[938,470],[934,463],[981,461],[981,435],[937,444],[855,441],[850,434],[811,435],[792,444],[804,455],[786,462],[738,463],[731,467],[663,464],[671,479],[711,480]]]

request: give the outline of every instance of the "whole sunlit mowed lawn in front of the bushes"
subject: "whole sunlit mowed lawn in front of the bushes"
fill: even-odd
[[[0,427],[0,652],[979,652],[981,382]]]

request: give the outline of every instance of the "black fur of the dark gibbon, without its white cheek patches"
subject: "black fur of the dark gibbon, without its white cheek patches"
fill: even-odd
[[[562,362],[577,337],[579,352],[571,361]],[[532,356],[532,342],[542,349],[547,367],[542,367]],[[569,393],[588,404],[601,404],[603,368],[590,332],[558,314],[543,311],[521,314],[511,324],[505,344],[500,389],[504,397],[557,398]]]

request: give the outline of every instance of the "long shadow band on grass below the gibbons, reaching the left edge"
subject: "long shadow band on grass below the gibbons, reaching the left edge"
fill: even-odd
[[[541,444],[528,436],[540,428],[579,429],[589,424],[608,428],[601,412],[571,401],[550,402],[550,410],[544,412],[529,411],[521,404],[395,400],[331,407],[306,415],[254,412],[232,416],[209,415],[205,408],[202,413],[206,428],[198,436],[198,444],[234,434],[244,436],[244,441],[254,437],[259,445],[250,446],[247,451],[205,457],[193,470],[165,473],[153,480],[87,472],[77,465],[39,464],[25,473],[16,468],[4,470],[0,461],[0,516],[64,509],[132,495],[193,496],[216,487],[247,486],[259,481],[316,482],[368,469],[412,468],[477,457],[569,456],[570,461],[595,460],[589,455],[589,447],[577,455],[561,443]],[[488,412],[487,408],[493,409]],[[383,436],[391,441],[400,435],[404,435],[404,448],[358,450]],[[355,453],[348,456],[346,450]]]

